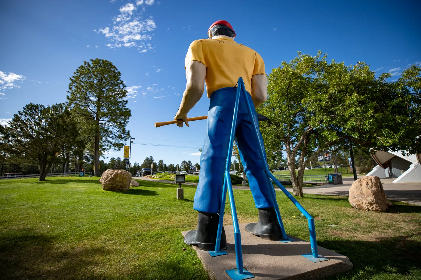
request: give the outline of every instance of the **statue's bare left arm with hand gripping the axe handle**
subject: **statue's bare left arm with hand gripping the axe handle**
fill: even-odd
[[[205,64],[199,61],[192,61],[186,67],[186,90],[184,90],[183,98],[181,99],[181,104],[179,111],[174,120],[182,119],[183,122],[189,126],[187,122],[187,113],[193,106],[196,105],[197,101],[203,95],[205,90],[205,77],[206,77],[206,66]],[[266,77],[266,76],[265,76]],[[183,127],[183,122],[179,122],[177,125]]]

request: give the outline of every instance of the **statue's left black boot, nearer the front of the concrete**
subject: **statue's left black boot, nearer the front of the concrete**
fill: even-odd
[[[218,232],[218,213],[199,211],[197,230],[190,230],[184,236],[184,243],[196,245],[200,250],[214,251],[216,244],[216,233]],[[226,249],[225,230],[222,227],[220,250]]]

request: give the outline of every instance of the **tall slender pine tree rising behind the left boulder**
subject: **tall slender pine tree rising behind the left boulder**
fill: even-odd
[[[82,129],[93,138],[95,176],[99,176],[99,156],[103,151],[123,148],[130,137],[126,130],[131,111],[127,90],[117,68],[107,60],[84,61],[70,78],[67,103],[85,125]]]

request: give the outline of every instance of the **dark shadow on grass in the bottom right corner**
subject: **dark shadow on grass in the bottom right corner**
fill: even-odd
[[[347,256],[354,264],[353,269],[341,275],[339,279],[383,279],[381,277],[386,278],[387,274],[391,277],[411,273],[421,275],[421,242],[413,240],[413,237],[419,234],[421,232],[394,238],[378,238],[375,241],[322,240],[318,241],[317,245]],[[418,272],[413,272],[414,269]],[[394,276],[393,273],[399,276]],[[380,276],[382,274],[384,275]],[[410,279],[416,279],[416,276]]]

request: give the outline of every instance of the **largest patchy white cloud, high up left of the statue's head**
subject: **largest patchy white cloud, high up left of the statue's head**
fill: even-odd
[[[136,6],[152,5],[153,0],[138,0]],[[138,47],[140,53],[146,53],[152,50],[151,44],[145,44],[144,41],[152,40],[152,36],[148,34],[156,28],[155,21],[152,16],[143,20],[142,13],[136,13],[138,8],[132,3],[127,3],[119,8],[120,15],[113,19],[112,27],[99,28],[96,33],[102,33],[111,41],[107,44],[108,48],[120,48],[122,46],[131,48]],[[144,11],[144,7],[142,8]]]

